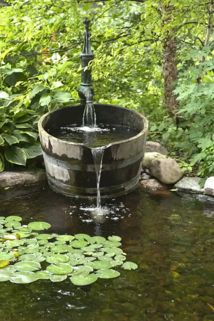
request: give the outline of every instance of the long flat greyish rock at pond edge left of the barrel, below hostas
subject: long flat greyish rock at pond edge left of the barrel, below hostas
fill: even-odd
[[[34,185],[47,179],[44,170],[4,171],[0,173],[0,188]]]

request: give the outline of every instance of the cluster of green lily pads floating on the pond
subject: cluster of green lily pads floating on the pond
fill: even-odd
[[[20,216],[0,216],[0,282],[60,282],[70,277],[75,285],[87,285],[98,278],[119,276],[113,269],[116,266],[137,268],[126,261],[119,236],[47,234],[49,223],[22,225],[21,220]]]

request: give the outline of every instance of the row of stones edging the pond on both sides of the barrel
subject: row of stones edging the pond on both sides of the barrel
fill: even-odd
[[[200,178],[183,177],[179,164],[167,158],[167,150],[159,143],[146,143],[146,152],[142,164],[140,185],[145,190],[177,190],[183,192],[214,196],[214,177],[209,177],[204,187],[200,187]],[[4,171],[0,173],[0,189],[35,185],[46,181],[45,170]]]

